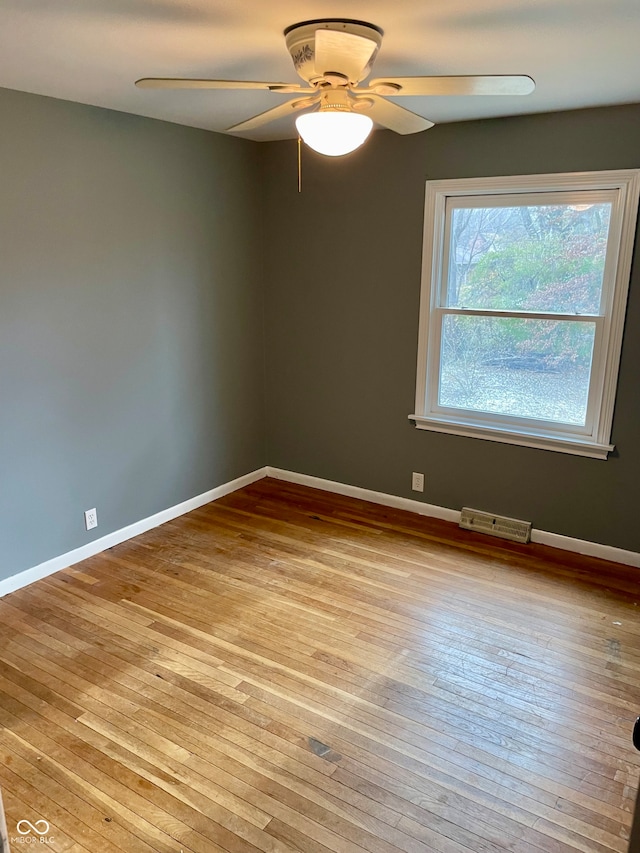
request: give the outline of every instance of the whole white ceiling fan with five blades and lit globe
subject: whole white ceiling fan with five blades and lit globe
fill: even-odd
[[[227,128],[254,130],[268,122],[308,109],[296,127],[304,141],[322,154],[340,155],[361,145],[377,122],[396,133],[418,133],[433,122],[388,97],[431,95],[528,95],[535,88],[525,75],[456,77],[380,77],[371,73],[383,31],[365,21],[321,18],[293,24],[284,31],[293,65],[305,84],[251,80],[203,80],[144,77],[143,89],[266,89],[296,95],[266,112]],[[347,140],[347,136],[349,139]]]

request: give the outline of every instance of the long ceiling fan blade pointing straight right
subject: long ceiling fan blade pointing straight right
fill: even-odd
[[[367,92],[390,95],[380,91],[384,86],[395,89],[396,95],[529,95],[536,87],[526,75],[494,74],[493,76],[459,77],[380,77],[371,80]]]

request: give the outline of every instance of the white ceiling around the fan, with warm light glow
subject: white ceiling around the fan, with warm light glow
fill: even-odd
[[[282,31],[328,17],[382,27],[377,77],[536,81],[519,98],[398,99],[436,124],[640,102],[639,0],[0,0],[0,86],[224,131],[286,96],[141,90],[134,81],[301,82]],[[292,137],[293,118],[247,135]]]

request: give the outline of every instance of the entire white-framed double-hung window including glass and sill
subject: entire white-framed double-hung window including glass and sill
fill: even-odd
[[[420,429],[606,459],[640,170],[429,181]]]

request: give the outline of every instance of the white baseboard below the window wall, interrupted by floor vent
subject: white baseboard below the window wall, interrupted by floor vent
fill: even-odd
[[[288,483],[298,483],[301,486],[310,486],[314,489],[323,489],[325,492],[335,492],[338,495],[346,495],[351,498],[360,498],[371,503],[390,506],[395,509],[406,509],[419,515],[427,515],[431,518],[440,518],[444,521],[460,521],[460,512],[455,509],[436,506],[435,504],[422,503],[410,498],[400,498],[396,495],[387,495],[384,492],[374,492],[371,489],[362,489],[360,486],[348,486],[345,483],[336,483],[333,480],[323,480],[320,477],[311,477],[308,474],[297,474],[294,471],[284,471],[281,468],[267,466],[267,476],[277,480],[285,480]],[[546,530],[531,531],[531,541],[539,545],[550,545],[552,548],[560,548],[563,551],[573,551],[588,557],[598,557],[601,560],[610,560],[613,563],[624,563],[627,566],[640,568],[640,554],[636,551],[625,551],[623,548],[615,548],[613,545],[601,545],[598,542],[589,542],[586,539],[573,539],[571,536],[562,536],[559,533],[549,533]]]

